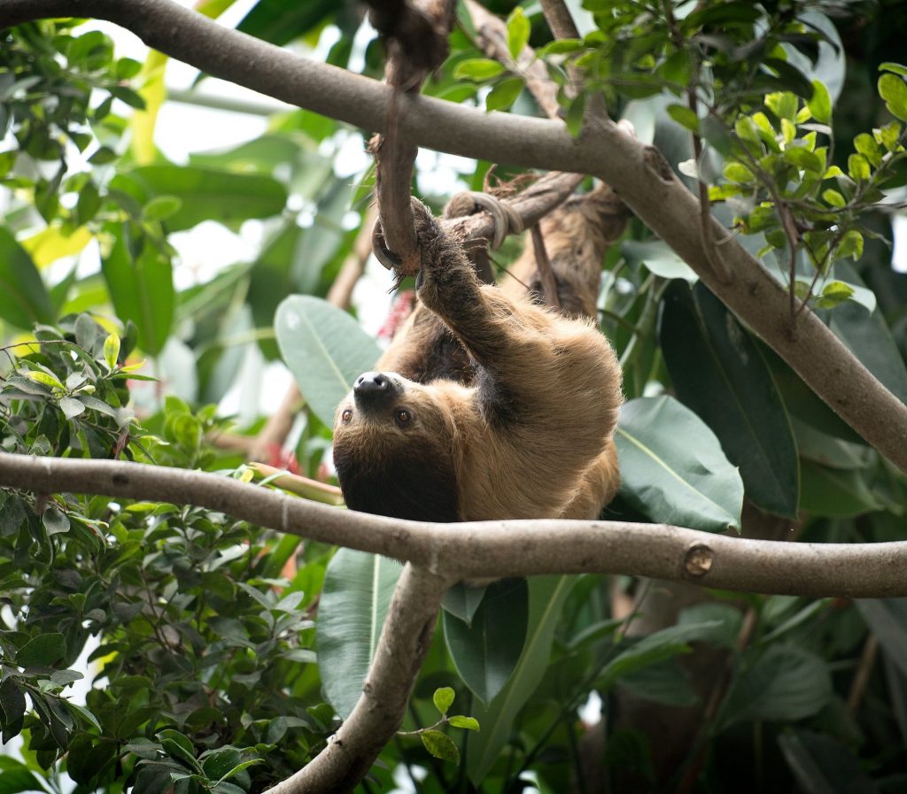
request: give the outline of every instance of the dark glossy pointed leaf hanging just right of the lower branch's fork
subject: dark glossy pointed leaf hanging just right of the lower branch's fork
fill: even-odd
[[[526,580],[505,579],[487,589],[471,625],[444,612],[444,639],[453,666],[483,703],[501,692],[520,659],[528,602]]]

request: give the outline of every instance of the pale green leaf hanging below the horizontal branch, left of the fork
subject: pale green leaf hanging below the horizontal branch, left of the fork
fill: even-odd
[[[403,567],[341,548],[327,566],[318,605],[318,669],[325,697],[346,719],[353,711]]]

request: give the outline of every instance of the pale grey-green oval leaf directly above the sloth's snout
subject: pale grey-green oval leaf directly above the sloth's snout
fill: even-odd
[[[380,351],[350,315],[310,295],[290,295],[274,318],[280,353],[309,407],[327,427],[334,410]]]

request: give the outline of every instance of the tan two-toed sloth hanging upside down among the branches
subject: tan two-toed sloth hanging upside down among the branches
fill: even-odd
[[[428,208],[413,209],[420,305],[336,412],[347,507],[444,522],[597,518],[619,485],[610,344],[590,319],[480,282]],[[555,265],[585,245],[574,253],[597,284],[601,232],[564,240]]]

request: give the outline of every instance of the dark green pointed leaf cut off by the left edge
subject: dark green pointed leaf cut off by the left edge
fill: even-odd
[[[54,304],[31,257],[0,227],[0,320],[30,331],[54,322]]]

